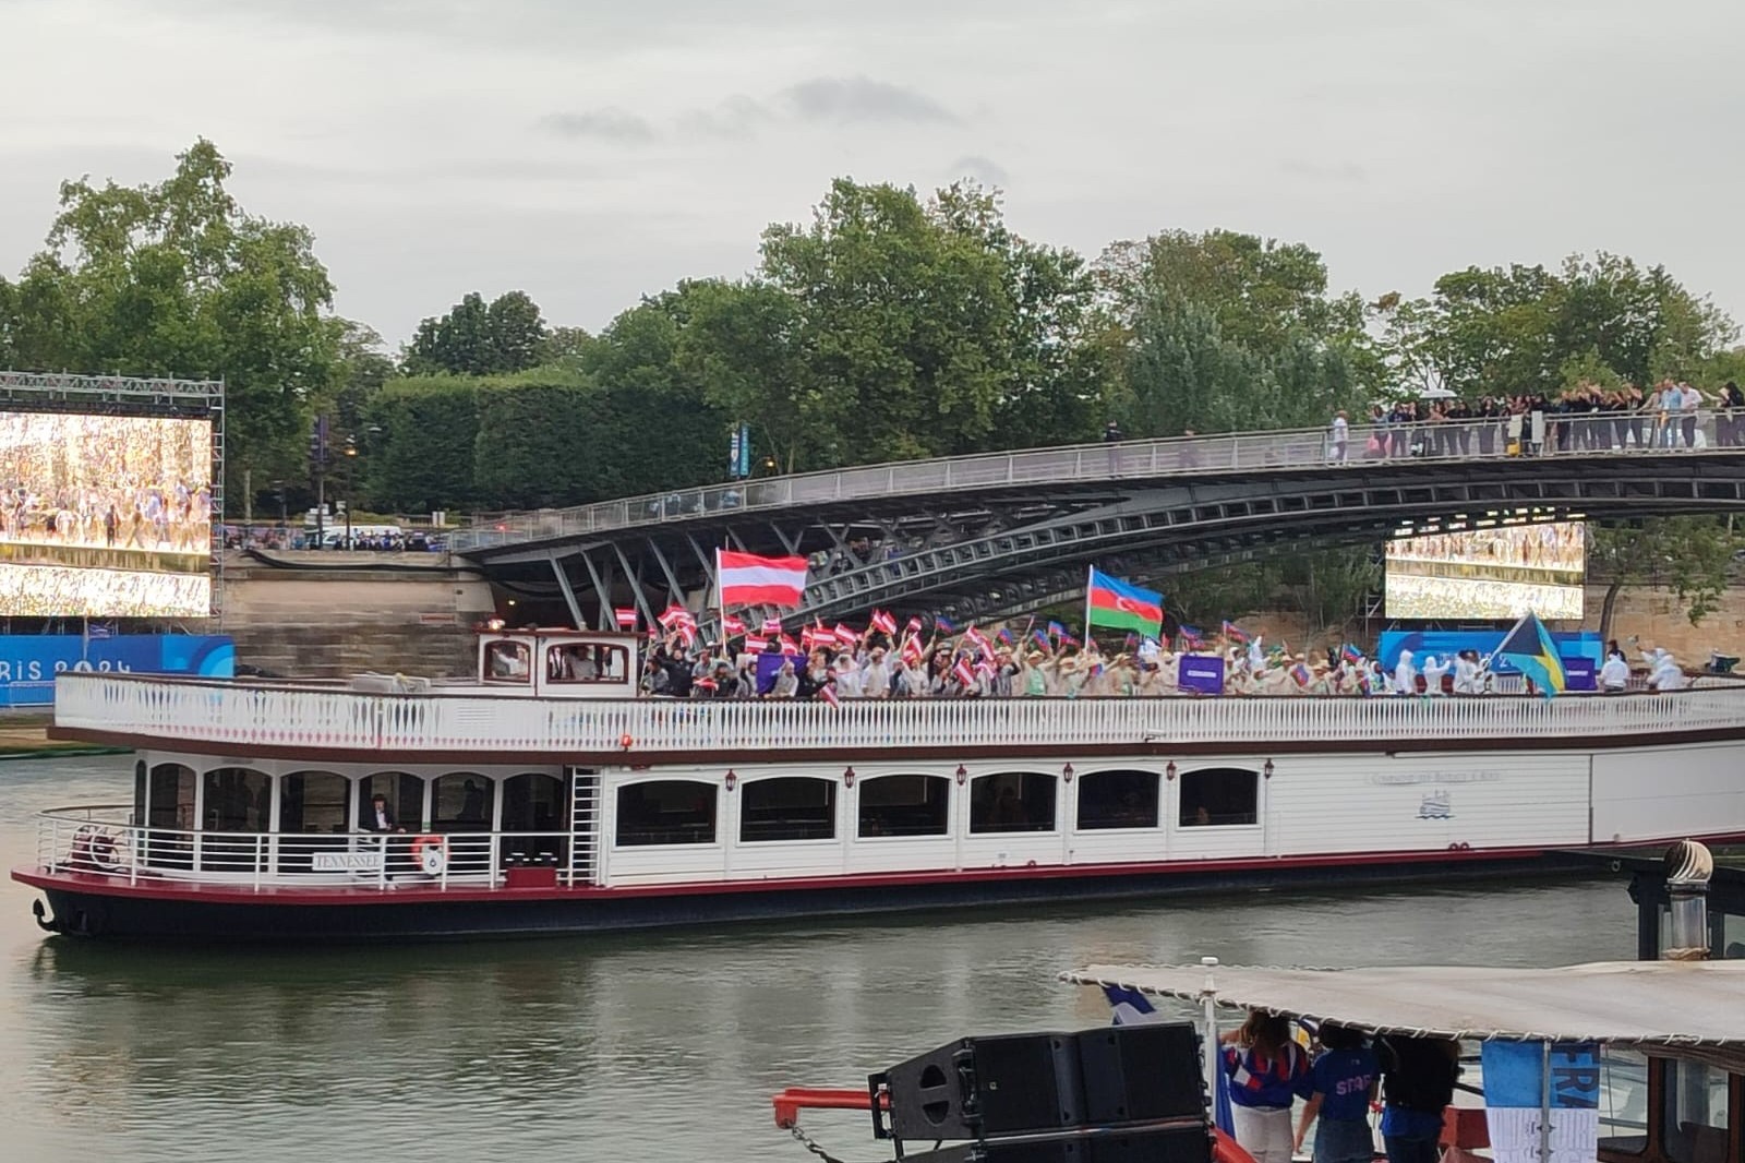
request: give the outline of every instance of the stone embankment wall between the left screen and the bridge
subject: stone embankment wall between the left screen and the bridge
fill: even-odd
[[[225,561],[218,632],[236,639],[237,665],[284,678],[471,672],[473,625],[496,606],[490,585],[464,564],[436,554],[272,557],[319,568],[281,569],[244,555]],[[370,568],[384,564],[408,569]]]

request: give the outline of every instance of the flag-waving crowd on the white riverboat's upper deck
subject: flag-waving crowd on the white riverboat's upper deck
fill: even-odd
[[[1499,683],[1490,660],[1476,651],[1415,658],[1403,651],[1393,667],[1352,644],[1314,653],[1267,646],[1225,623],[1216,636],[1181,627],[1171,639],[1127,634],[1119,648],[1075,637],[1057,622],[961,632],[948,618],[895,618],[874,611],[866,630],[811,625],[797,636],[777,620],[750,630],[728,618],[726,641],[705,643],[684,611],[661,615],[644,658],[642,692],[675,698],[1110,698],[1194,697],[1215,693],[1190,678],[1188,658],[1222,658],[1220,695],[1473,697],[1522,690]],[[764,662],[764,658],[771,662]],[[780,658],[780,662],[775,662]],[[1684,671],[1663,650],[1646,651],[1632,669],[1611,643],[1598,688],[1679,690]]]

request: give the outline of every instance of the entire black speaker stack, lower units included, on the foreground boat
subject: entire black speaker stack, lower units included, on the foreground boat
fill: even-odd
[[[867,1088],[872,1133],[913,1163],[1211,1163],[1185,1022],[963,1037]]]

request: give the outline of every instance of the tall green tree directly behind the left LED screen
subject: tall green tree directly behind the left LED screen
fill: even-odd
[[[300,475],[340,325],[307,229],[248,215],[211,141],[155,185],[61,183],[45,248],[5,299],[21,367],[225,381],[232,496],[250,471]]]

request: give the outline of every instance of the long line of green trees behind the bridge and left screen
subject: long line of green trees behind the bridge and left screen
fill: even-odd
[[[0,278],[0,367],[227,382],[227,496],[298,499],[328,416],[358,505],[524,508],[754,475],[1127,437],[1317,426],[1424,388],[1745,377],[1733,320],[1621,255],[1335,293],[1304,243],[1159,231],[1101,255],[1014,232],[996,192],[838,178],[743,278],[646,295],[599,334],[464,295],[398,351],[333,313],[314,237],[250,215],[206,140],[157,183],[65,182]],[[263,503],[265,501],[265,503]],[[1684,529],[1682,533],[1687,533]],[[1628,554],[1614,554],[1625,559]],[[1331,569],[1331,568],[1328,568]],[[1323,571],[1326,573],[1326,569]]]

